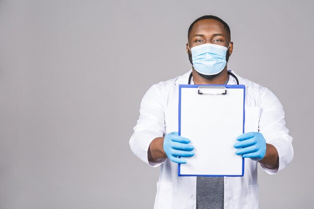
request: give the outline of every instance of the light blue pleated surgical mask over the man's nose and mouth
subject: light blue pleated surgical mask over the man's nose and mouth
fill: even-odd
[[[190,50],[194,69],[204,75],[220,73],[227,65],[226,54],[228,49],[229,47],[216,44],[202,44],[192,47]]]

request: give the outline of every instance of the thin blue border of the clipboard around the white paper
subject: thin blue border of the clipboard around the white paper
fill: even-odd
[[[243,130],[244,133],[244,125],[245,125],[245,85],[187,85],[180,84],[179,85],[179,136],[181,136],[181,89],[182,88],[198,88],[199,86],[224,86],[227,89],[243,89]],[[180,174],[180,165],[178,164],[178,176],[229,176],[229,177],[239,177],[244,175],[244,157],[242,157],[242,174],[241,175],[190,175],[190,174]]]

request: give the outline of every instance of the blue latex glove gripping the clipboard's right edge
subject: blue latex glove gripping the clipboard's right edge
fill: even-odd
[[[251,158],[259,161],[263,159],[266,153],[266,141],[264,136],[258,132],[244,133],[237,137],[239,142],[234,144],[238,150],[235,152],[242,157]]]

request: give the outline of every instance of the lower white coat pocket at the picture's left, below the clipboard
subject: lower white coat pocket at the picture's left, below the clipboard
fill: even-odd
[[[154,209],[171,209],[172,195],[173,183],[158,181]]]

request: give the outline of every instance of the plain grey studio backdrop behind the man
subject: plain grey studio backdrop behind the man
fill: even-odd
[[[312,1],[0,0],[0,208],[152,208],[159,168],[131,153],[139,104],[191,66],[187,30],[225,20],[228,67],[272,90],[294,137],[259,170],[260,208],[314,204]]]

